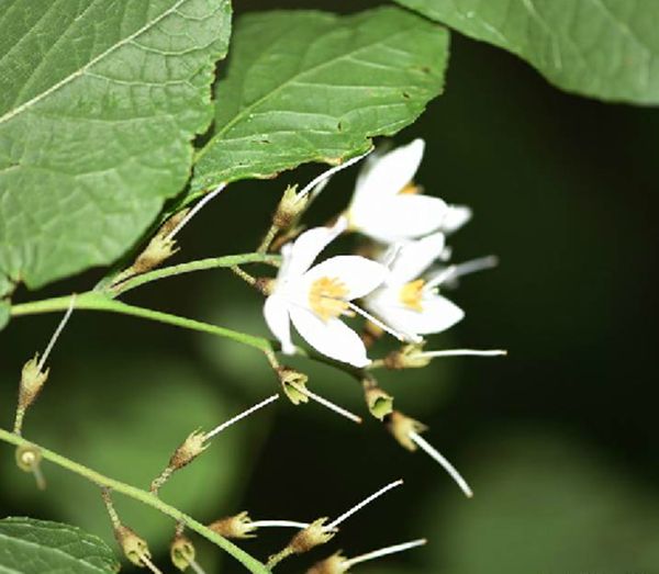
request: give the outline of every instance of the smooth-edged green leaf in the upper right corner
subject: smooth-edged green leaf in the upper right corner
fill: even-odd
[[[563,90],[659,103],[655,0],[395,0],[505,48]]]

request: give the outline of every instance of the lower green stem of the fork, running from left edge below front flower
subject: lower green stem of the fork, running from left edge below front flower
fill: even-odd
[[[21,303],[19,305],[12,305],[11,315],[19,317],[22,315],[36,315],[41,313],[52,313],[55,311],[65,311],[68,308],[70,295],[64,297],[45,299],[43,301],[34,301],[32,303]],[[198,330],[201,333],[208,333],[215,335],[216,337],[224,337],[249,347],[254,347],[260,351],[272,348],[272,344],[264,337],[255,337],[241,333],[237,330],[227,329],[224,327],[217,327],[209,323],[201,320],[189,319],[187,317],[179,317],[178,315],[171,315],[170,313],[163,313],[160,311],[153,311],[144,307],[137,307],[135,305],[129,305],[121,301],[109,299],[108,296],[88,291],[81,293],[76,297],[76,308],[86,311],[107,311],[110,313],[121,313],[123,315],[132,315],[134,317],[141,317],[150,320],[157,320],[159,323],[166,323],[174,325],[175,327],[182,327],[185,329]]]

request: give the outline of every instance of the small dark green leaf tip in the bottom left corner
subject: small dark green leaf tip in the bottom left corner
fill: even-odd
[[[0,520],[2,574],[104,574],[119,570],[108,544],[79,528],[32,518]]]

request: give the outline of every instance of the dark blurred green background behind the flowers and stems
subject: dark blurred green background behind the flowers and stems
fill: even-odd
[[[372,3],[350,2],[349,10]],[[336,10],[330,1],[277,7]],[[399,408],[431,426],[426,437],[469,480],[474,498],[463,498],[424,454],[403,451],[375,419],[359,427],[315,404],[286,401],[217,437],[163,497],[204,521],[243,509],[254,518],[310,520],[336,516],[403,476],[405,486],[351,518],[328,547],[278,571],[301,572],[339,548],[351,556],[427,537],[424,549],[355,571],[659,573],[658,130],[657,110],[561,93],[516,58],[454,34],[446,94],[395,144],[424,137],[418,182],[473,207],[473,221],[451,237],[456,260],[501,259],[449,295],[467,318],[432,346],[503,347],[510,356],[445,359],[389,374],[382,384]],[[176,261],[252,250],[284,185],[319,170],[231,185],[181,234]],[[355,175],[333,180],[310,223],[346,204]],[[82,291],[99,277],[21,291],[16,300]],[[126,301],[267,334],[260,295],[222,270],[154,283]],[[58,319],[21,318],[0,334],[4,427],[21,365],[43,349]],[[76,313],[49,362],[51,380],[25,435],[144,486],[191,430],[277,390],[257,351],[122,316]],[[364,414],[350,379],[294,364],[314,390]],[[113,543],[89,484],[46,465],[49,487],[41,493],[14,466],[9,447],[1,444],[0,455],[2,516],[69,521]],[[167,564],[171,524],[131,500],[116,503]],[[265,558],[290,534],[264,530],[242,545]],[[199,552],[209,573],[242,572],[201,541]]]

